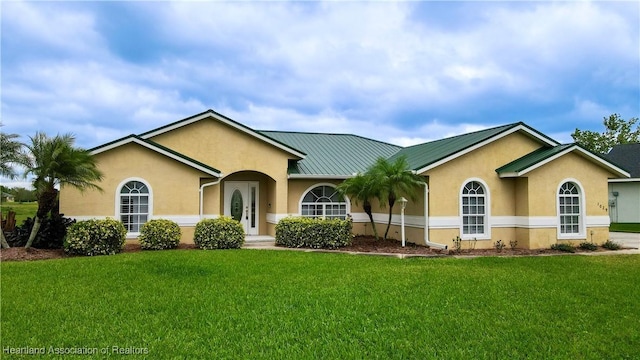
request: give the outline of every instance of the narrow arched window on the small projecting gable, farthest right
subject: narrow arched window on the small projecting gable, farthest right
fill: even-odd
[[[583,233],[582,220],[582,192],[580,186],[567,181],[560,185],[558,189],[558,216],[560,226],[560,237],[581,235]]]

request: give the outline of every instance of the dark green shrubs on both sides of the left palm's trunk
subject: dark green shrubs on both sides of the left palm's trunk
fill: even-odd
[[[34,218],[27,218],[22,225],[16,226],[13,231],[6,233],[9,246],[25,246],[27,240],[29,240],[29,235],[31,235],[34,222]],[[36,249],[62,249],[67,229],[75,222],[75,219],[66,218],[63,214],[42,219],[40,230],[38,230],[32,246]]]

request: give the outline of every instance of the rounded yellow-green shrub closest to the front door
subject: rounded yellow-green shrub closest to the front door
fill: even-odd
[[[244,229],[231,217],[200,220],[196,224],[193,242],[200,249],[239,249],[244,244]]]

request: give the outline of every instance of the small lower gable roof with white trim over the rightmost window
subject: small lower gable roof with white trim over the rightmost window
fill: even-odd
[[[496,172],[501,178],[519,177],[571,152],[575,152],[592,162],[598,163],[600,166],[607,168],[609,171],[618,176],[629,177],[629,173],[624,169],[611,163],[607,159],[604,159],[582,148],[578,144],[564,144],[554,147],[542,147],[504,166],[499,167],[498,169],[496,169]]]

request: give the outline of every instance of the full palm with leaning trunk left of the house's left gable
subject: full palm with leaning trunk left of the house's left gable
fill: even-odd
[[[75,137],[71,134],[48,137],[38,132],[26,145],[29,161],[25,176],[33,175],[38,211],[29,240],[25,248],[30,248],[40,230],[42,219],[56,207],[58,190],[56,187],[71,185],[80,191],[88,188],[102,190],[96,182],[102,180],[93,156],[88,150],[73,146]]]

